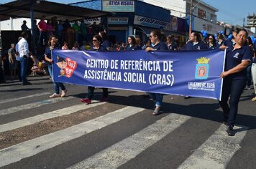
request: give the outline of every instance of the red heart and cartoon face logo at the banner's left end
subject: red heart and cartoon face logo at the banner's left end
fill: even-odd
[[[57,57],[58,61],[57,61],[57,65],[58,67],[60,68],[60,76],[65,76],[65,77],[72,77],[76,67],[77,67],[77,64],[76,64],[76,61],[74,60],[71,60],[70,58],[66,58],[66,59],[63,59],[61,57]]]

